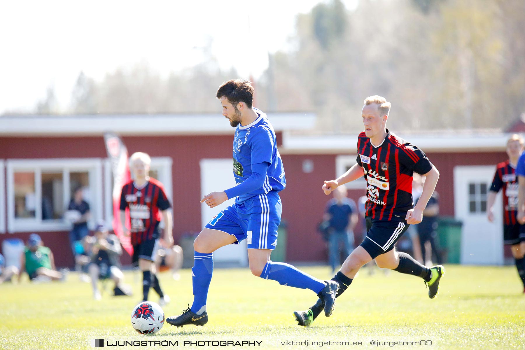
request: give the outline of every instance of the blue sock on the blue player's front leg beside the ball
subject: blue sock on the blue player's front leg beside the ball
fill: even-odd
[[[206,311],[209,283],[212,281],[213,253],[194,253],[195,263],[192,268],[193,305],[192,312]],[[199,313],[199,314],[200,314]]]

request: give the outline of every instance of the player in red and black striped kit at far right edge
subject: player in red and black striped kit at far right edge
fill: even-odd
[[[503,189],[503,244],[510,245],[516,269],[523,283],[523,293],[525,293],[525,227],[520,225],[517,219],[518,214],[518,178],[516,167],[518,158],[523,151],[523,139],[514,134],[507,141],[506,162],[499,163],[496,174],[490,186],[487,198],[487,218],[490,222],[494,221],[493,207],[496,195]]]

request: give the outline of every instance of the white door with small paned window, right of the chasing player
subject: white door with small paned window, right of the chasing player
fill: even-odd
[[[454,167],[454,208],[463,221],[462,264],[503,264],[503,213],[501,193],[494,205],[494,222],[487,220],[487,194],[495,165]]]

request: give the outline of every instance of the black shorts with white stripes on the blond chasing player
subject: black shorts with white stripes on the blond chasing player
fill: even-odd
[[[406,220],[379,220],[366,217],[366,237],[360,246],[370,254],[372,259],[394,249],[395,243],[408,229]]]

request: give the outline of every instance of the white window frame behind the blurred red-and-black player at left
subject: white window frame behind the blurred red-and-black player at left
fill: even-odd
[[[166,196],[173,205],[173,185],[172,185],[172,157],[151,157],[151,169],[159,173],[158,180],[164,185]],[[111,188],[112,166],[111,160],[104,160],[104,213],[106,222],[111,226],[113,221],[113,189]]]

